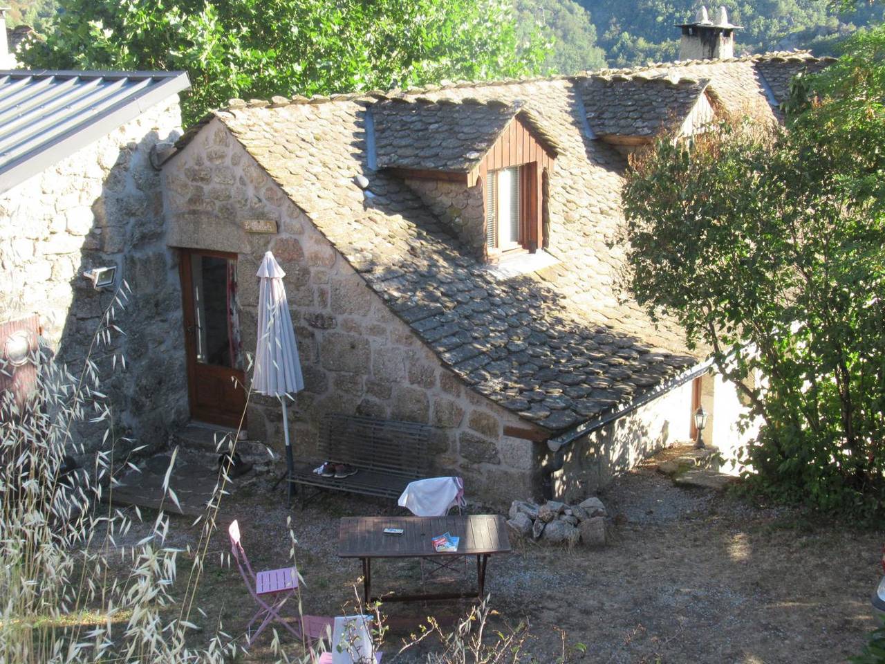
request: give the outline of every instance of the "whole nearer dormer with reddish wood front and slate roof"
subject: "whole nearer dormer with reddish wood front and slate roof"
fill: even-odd
[[[561,148],[521,104],[397,97],[366,127],[370,168],[402,178],[477,259],[543,248],[542,182]]]

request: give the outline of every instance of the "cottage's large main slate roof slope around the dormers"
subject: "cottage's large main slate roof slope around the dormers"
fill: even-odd
[[[773,119],[758,78],[764,61],[688,62],[616,74],[708,79],[729,109],[749,104]],[[471,105],[464,112],[475,111],[476,99],[494,102],[487,104],[493,110],[521,104],[558,144],[546,248],[558,263],[506,280],[474,259],[403,180],[369,167],[366,112],[374,115],[383,94],[275,97],[273,104],[232,100],[204,123],[217,118],[227,126],[444,366],[520,417],[564,432],[660,390],[705,355],[687,349],[672,320],[654,324],[620,288],[627,164],[614,147],[593,140],[578,101],[586,82],[587,76],[552,77],[391,93]],[[179,147],[200,127],[182,136]],[[368,179],[370,196],[354,181],[358,174]]]

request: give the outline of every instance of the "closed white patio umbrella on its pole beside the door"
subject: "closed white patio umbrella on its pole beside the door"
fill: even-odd
[[[286,469],[289,484],[289,505],[292,502],[292,445],[289,441],[289,417],[286,398],[304,390],[304,377],[298,361],[295,330],[286,300],[286,276],[273,253],[267,251],[258,267],[258,348],[255,350],[255,371],[252,388],[259,394],[280,399],[282,429],[286,440]]]

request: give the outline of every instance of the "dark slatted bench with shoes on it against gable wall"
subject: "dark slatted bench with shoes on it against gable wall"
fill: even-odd
[[[296,464],[292,483],[399,498],[408,483],[427,477],[430,431],[418,422],[327,414],[319,429],[319,460]],[[313,472],[323,461],[347,464],[358,472],[350,477],[323,477]]]

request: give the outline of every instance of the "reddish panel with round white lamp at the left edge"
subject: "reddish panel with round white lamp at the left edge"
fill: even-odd
[[[0,393],[12,392],[19,408],[37,388],[40,319],[27,316],[0,323]]]

